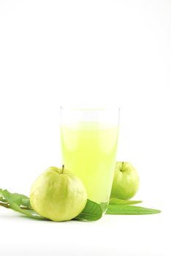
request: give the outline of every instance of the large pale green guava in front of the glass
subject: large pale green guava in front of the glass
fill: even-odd
[[[31,187],[30,202],[34,211],[56,222],[75,218],[87,202],[82,181],[68,170],[49,167]]]

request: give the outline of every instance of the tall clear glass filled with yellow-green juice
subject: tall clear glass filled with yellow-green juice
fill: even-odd
[[[61,149],[66,169],[86,186],[88,199],[107,206],[113,184],[119,109],[61,107]]]

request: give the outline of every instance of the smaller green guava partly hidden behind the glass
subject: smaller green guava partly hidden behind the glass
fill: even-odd
[[[129,162],[116,162],[110,198],[128,200],[136,194],[139,185],[137,170]]]

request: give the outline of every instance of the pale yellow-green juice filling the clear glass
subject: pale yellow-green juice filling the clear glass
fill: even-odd
[[[88,199],[107,203],[113,183],[118,127],[79,122],[61,127],[65,168],[85,184]]]

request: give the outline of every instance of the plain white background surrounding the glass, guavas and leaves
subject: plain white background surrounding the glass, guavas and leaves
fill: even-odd
[[[61,165],[60,105],[118,105],[134,199],[162,211],[55,223],[0,208],[2,256],[171,255],[170,45],[169,0],[0,0],[0,187],[29,195]]]

